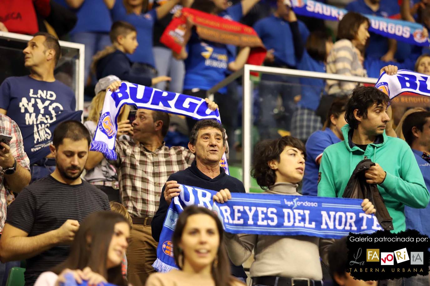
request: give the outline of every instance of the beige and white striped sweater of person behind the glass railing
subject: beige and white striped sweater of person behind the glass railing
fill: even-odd
[[[347,39],[335,42],[327,57],[326,69],[327,73],[367,77],[367,72],[359,59],[359,51]],[[327,80],[326,92],[328,94],[350,93],[358,84],[358,82],[351,81]]]

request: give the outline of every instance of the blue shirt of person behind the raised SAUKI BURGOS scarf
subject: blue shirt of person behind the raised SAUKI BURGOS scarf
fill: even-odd
[[[355,0],[349,3],[345,9],[360,14],[375,15],[388,18],[399,13],[399,5],[395,0],[381,0],[378,11],[374,12],[366,5],[364,0]],[[370,33],[369,46],[366,48],[366,57],[381,58],[388,51],[387,38],[375,33]]]

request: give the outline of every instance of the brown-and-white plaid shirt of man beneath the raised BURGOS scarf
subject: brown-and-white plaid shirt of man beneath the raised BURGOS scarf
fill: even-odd
[[[187,169],[194,154],[184,147],[163,144],[149,151],[134,141],[116,141],[118,170],[123,205],[132,217],[154,217],[160,204],[161,190],[170,175]]]

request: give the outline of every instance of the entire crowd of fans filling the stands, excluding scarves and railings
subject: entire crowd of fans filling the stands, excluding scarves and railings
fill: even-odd
[[[236,286],[246,283],[243,264],[252,254],[252,285],[381,283],[353,280],[345,271],[345,239],[233,235],[223,231],[211,211],[196,206],[184,210],[172,238],[180,269],[153,274],[163,223],[179,184],[215,190],[214,200],[220,203],[247,191],[219,166],[224,152],[237,147],[240,83],[216,91],[214,100],[206,96],[244,66],[251,48],[204,40],[192,23],[179,52],[160,37],[181,9],[190,7],[251,25],[267,49],[266,66],[360,77],[394,75],[399,68],[430,75],[428,47],[369,33],[364,16],[418,22],[427,37],[429,1],[353,0],[336,32],[296,15],[290,0],[12,2],[0,3],[0,30],[33,37],[23,50],[30,75],[12,76],[0,85],[0,136],[9,138],[0,143],[2,285],[9,270],[25,260],[26,285],[71,279]],[[91,105],[85,123],[80,115],[61,120],[76,109],[76,99],[55,78],[58,37],[85,45],[85,84],[94,87],[86,90]],[[189,140],[169,144],[173,117],[124,105],[117,116],[117,159],[107,160],[89,146],[106,92],[117,90],[121,81],[204,98],[211,110],[219,108],[223,125],[187,118],[178,136]],[[252,177],[265,194],[342,197],[357,164],[370,159],[375,166],[365,179],[378,186],[393,218],[392,231],[409,228],[430,235],[427,106],[391,106],[385,93],[356,82],[272,74],[261,75],[255,99],[258,137],[266,140],[255,145]],[[394,114],[402,118],[394,120]],[[53,123],[58,125],[51,134]],[[51,145],[40,144],[50,136]],[[368,199],[361,206],[366,214],[378,211]],[[429,283],[428,276],[388,281]]]

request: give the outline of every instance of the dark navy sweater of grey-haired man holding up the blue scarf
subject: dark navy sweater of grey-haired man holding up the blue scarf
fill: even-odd
[[[227,175],[220,167],[221,174],[217,177],[211,179],[197,168],[196,161],[194,161],[190,167],[184,171],[176,172],[169,176],[167,181],[177,181],[178,184],[184,184],[188,186],[204,188],[208,190],[219,191],[222,189],[228,189],[232,193],[245,193],[245,187],[238,179]],[[161,229],[163,228],[164,220],[166,219],[167,210],[169,205],[167,205],[166,199],[164,199],[164,185],[161,191],[160,206],[158,207],[157,213],[152,219],[151,229],[152,237],[156,240],[160,240]],[[235,266],[231,264],[231,274],[236,277],[246,277],[245,271],[243,271],[242,266]]]

